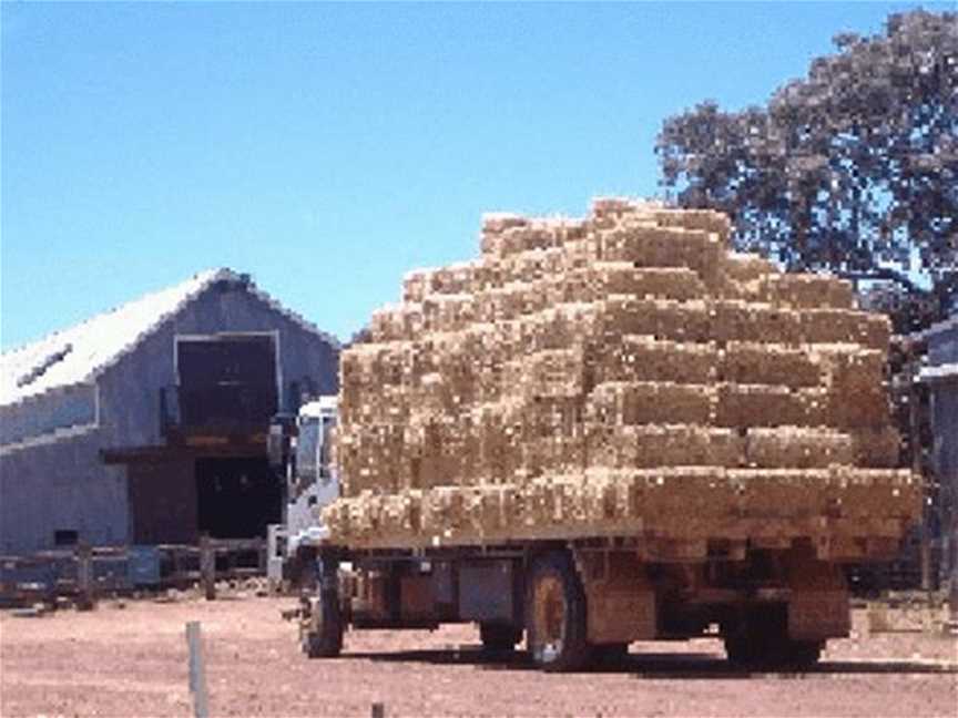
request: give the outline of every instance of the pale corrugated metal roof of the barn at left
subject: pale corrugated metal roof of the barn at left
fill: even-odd
[[[243,280],[232,269],[202,271],[183,284],[149,294],[116,309],[51,334],[0,357],[0,406],[18,403],[58,387],[93,381],[147,335],[213,283]],[[335,349],[339,342],[249,284],[248,290]]]

